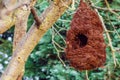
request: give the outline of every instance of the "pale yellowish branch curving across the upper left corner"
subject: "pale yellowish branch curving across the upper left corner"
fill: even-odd
[[[4,7],[0,7],[0,34],[7,31],[14,25],[16,21],[15,16],[13,15],[14,11],[25,4],[30,4],[29,0],[25,0],[24,3],[17,2],[17,0],[4,0],[3,2],[6,3],[6,5]],[[2,4],[3,3],[0,5]],[[31,2],[30,5],[33,5],[33,3]]]

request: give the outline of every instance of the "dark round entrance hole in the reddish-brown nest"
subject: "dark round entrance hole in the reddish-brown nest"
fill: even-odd
[[[87,42],[88,42],[88,37],[84,34],[78,34],[76,36],[76,40],[77,40],[77,43],[79,45],[79,47],[84,47],[85,45],[87,45]]]

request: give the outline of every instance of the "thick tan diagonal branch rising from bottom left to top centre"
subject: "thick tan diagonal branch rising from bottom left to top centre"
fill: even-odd
[[[64,4],[69,5],[71,3],[71,0],[63,0],[64,4],[61,0],[56,1],[59,2],[52,4],[49,9],[46,10],[45,14],[41,16],[42,24],[39,26],[39,29],[33,24],[31,29],[18,44],[7,69],[1,76],[1,80],[16,80],[31,51],[39,42],[39,39],[42,38],[46,31],[66,10]]]

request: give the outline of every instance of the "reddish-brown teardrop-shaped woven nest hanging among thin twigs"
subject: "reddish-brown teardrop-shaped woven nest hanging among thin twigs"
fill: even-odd
[[[79,70],[104,65],[106,60],[102,23],[97,13],[81,0],[66,37],[66,58]]]

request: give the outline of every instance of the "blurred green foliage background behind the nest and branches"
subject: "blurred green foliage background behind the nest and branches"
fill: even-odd
[[[94,7],[100,8],[98,11],[107,29],[103,34],[107,45],[105,66],[90,71],[78,71],[70,67],[65,59],[66,31],[70,28],[72,16],[79,4],[79,0],[75,0],[75,4],[69,6],[32,51],[25,65],[23,80],[120,80],[120,0],[107,1],[114,12],[107,9],[104,0],[92,0]],[[38,15],[49,4],[48,0],[37,0],[35,8]],[[33,16],[30,15],[28,29],[32,23]],[[0,75],[11,59],[13,31],[14,28],[11,28],[0,34]]]

